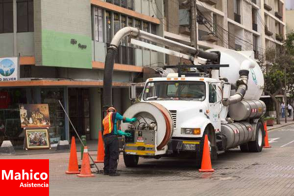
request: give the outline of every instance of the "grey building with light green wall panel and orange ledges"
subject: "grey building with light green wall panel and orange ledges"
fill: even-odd
[[[112,37],[125,26],[164,33],[157,18],[162,0],[0,0],[0,13],[0,58],[17,57],[19,64],[19,78],[0,80],[0,125],[5,127],[0,143],[9,138],[19,146],[24,141],[20,103],[49,104],[51,143],[73,135],[58,100],[79,134],[97,139]],[[113,77],[113,103],[120,113],[131,104],[128,86],[143,66],[163,62],[163,54],[122,41]]]

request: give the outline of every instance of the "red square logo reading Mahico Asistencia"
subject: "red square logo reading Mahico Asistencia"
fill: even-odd
[[[49,159],[0,159],[1,195],[49,196]]]

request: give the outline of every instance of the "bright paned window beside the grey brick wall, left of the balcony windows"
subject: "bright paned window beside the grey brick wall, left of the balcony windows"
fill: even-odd
[[[98,7],[94,7],[94,31],[95,41],[103,42],[103,14]]]

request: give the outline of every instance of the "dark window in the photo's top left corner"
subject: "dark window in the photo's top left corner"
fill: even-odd
[[[0,0],[0,33],[13,32],[13,2]]]

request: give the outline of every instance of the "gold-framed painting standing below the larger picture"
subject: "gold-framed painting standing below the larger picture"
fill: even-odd
[[[25,143],[27,149],[49,149],[50,138],[48,128],[25,129]]]

